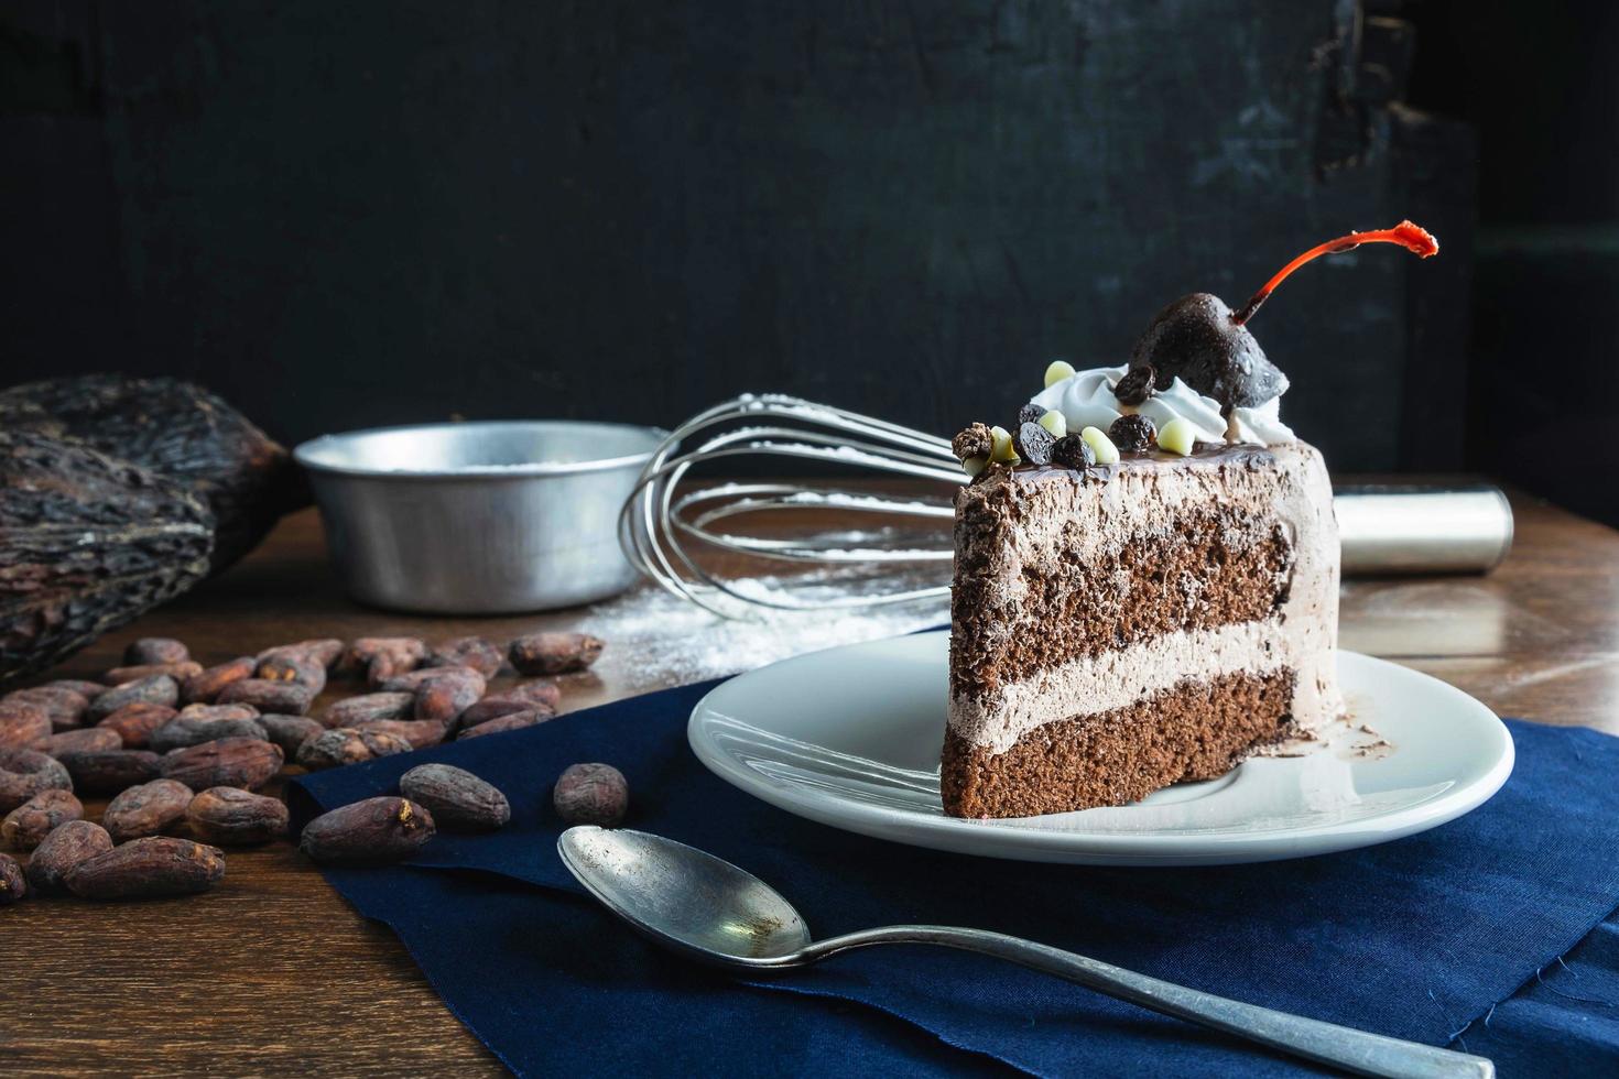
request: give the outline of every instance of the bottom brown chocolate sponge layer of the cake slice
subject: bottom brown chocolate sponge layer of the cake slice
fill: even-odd
[[[944,810],[1033,817],[1124,806],[1187,780],[1213,780],[1255,746],[1292,733],[1294,671],[1187,681],[1130,705],[1038,726],[1005,752],[945,733]]]

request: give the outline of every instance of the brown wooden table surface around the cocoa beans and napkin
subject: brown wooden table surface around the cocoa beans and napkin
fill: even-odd
[[[1436,675],[1502,715],[1619,734],[1619,532],[1533,500],[1514,505],[1517,545],[1488,578],[1347,584],[1342,644]],[[427,620],[356,607],[304,511],[217,581],[49,676],[96,676],[139,636],[180,637],[212,663],[304,637],[504,641],[576,616]],[[620,696],[610,675],[583,676],[563,707]],[[100,802],[89,810],[96,819]],[[5,1076],[500,1071],[392,933],[355,914],[287,843],[230,851],[223,883],[204,896],[0,909],[0,996]]]

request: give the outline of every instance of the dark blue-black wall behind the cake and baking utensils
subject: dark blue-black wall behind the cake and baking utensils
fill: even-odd
[[[1611,104],[1590,6],[0,2],[0,374],[188,375],[285,440],[742,390],[947,434],[1412,217],[1439,259],[1318,264],[1253,328],[1336,466],[1496,464],[1472,230],[1517,188],[1473,131],[1488,171],[1502,110]],[[1512,42],[1564,83],[1498,89]]]

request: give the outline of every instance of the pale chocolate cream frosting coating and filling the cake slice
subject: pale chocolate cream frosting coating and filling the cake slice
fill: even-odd
[[[1109,482],[1075,474],[1012,472],[1018,485],[1015,527],[991,531],[989,547],[965,560],[981,565],[997,587],[986,611],[984,649],[1009,647],[1030,576],[1060,574],[1065,561],[1112,553],[1140,537],[1166,537],[1180,514],[1200,506],[1234,510],[1229,537],[1242,545],[1281,527],[1294,547],[1285,602],[1277,616],[1209,631],[1166,634],[1104,657],[1086,657],[1004,684],[976,697],[952,694],[949,723],[970,744],[1004,752],[1028,731],[1056,720],[1106,712],[1149,696],[1151,688],[1227,673],[1295,671],[1292,717],[1316,730],[1344,710],[1336,681],[1339,542],[1332,487],[1313,446],[1294,442],[1243,458],[1188,458],[1120,469]],[[994,480],[992,480],[994,482]],[[1130,576],[1091,597],[1091,618],[1128,608]],[[960,616],[960,613],[958,613]],[[1263,657],[1263,658],[1261,658]],[[1138,671],[1154,668],[1156,681]],[[1060,676],[1060,678],[1059,678]],[[1056,679],[1056,681],[1054,681]]]

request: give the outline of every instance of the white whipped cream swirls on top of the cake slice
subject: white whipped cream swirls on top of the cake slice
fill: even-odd
[[[1294,432],[1281,421],[1281,396],[1255,408],[1237,408],[1230,421],[1221,416],[1219,401],[1205,396],[1179,377],[1167,390],[1159,390],[1141,404],[1122,404],[1114,396],[1114,387],[1124,379],[1128,366],[1091,367],[1054,382],[1031,398],[1033,404],[1062,413],[1069,430],[1109,425],[1127,413],[1146,416],[1162,430],[1172,419],[1192,424],[1198,442],[1251,442],[1274,446],[1295,442]]]

